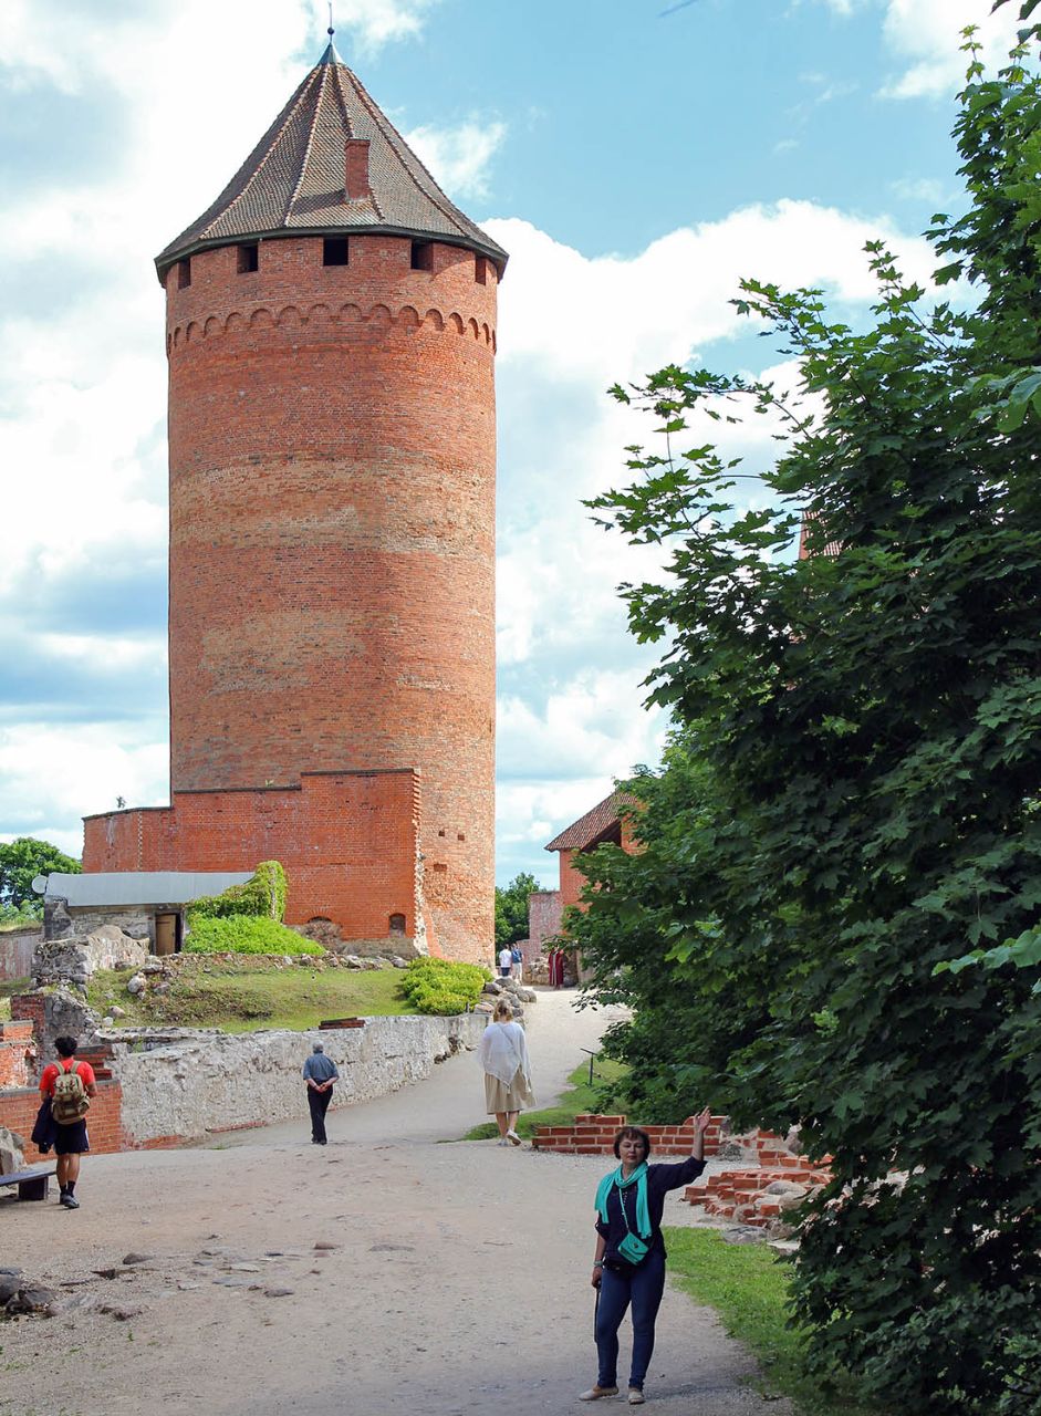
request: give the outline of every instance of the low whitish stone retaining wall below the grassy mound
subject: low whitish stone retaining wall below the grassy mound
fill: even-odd
[[[313,1042],[323,1042],[340,1070],[331,1107],[339,1110],[422,1080],[435,1063],[476,1046],[486,1024],[482,1014],[462,1014],[365,1018],[364,1027],[322,1032],[113,1029],[79,1054],[99,1080],[91,1150],[154,1150],[273,1121],[306,1127],[300,1072]],[[0,1124],[28,1141],[38,1104],[34,1087],[0,1090]]]

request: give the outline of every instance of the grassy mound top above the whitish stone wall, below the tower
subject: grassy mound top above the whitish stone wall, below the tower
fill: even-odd
[[[398,995],[397,969],[307,969],[293,964],[272,969],[262,956],[234,963],[193,959],[181,966],[167,994],[149,994],[142,1003],[126,991],[135,970],[98,971],[88,988],[88,1003],[105,1014],[118,1003],[126,1010],[120,1027],[221,1028],[254,1032],[258,1028],[314,1028],[323,1018],[384,1017],[414,1012]]]

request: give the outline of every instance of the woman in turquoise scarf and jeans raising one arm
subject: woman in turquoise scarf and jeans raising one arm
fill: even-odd
[[[582,1402],[618,1396],[618,1330],[633,1308],[633,1359],[629,1405],[643,1405],[643,1382],[654,1351],[654,1321],[666,1287],[666,1245],[661,1215],[670,1189],[688,1185],[705,1168],[708,1107],[694,1117],[690,1160],[677,1165],[649,1165],[650,1137],[637,1126],[623,1126],[615,1137],[618,1170],[596,1189],[596,1253],[592,1286],[596,1303],[596,1385]]]

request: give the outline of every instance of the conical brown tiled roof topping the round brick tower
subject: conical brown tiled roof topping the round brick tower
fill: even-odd
[[[368,139],[370,194],[344,197],[344,144]],[[385,232],[507,255],[453,205],[330,44],[217,201],[156,256],[258,236]]]

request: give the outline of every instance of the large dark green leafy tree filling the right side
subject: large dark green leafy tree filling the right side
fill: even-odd
[[[667,446],[593,503],[670,548],[625,595],[680,729],[635,784],[643,852],[598,852],[572,933],[603,990],[653,984],[615,1038],[652,1106],[698,1080],[834,1157],[795,1266],[809,1361],[916,1416],[1041,1412],[1037,37],[991,79],[973,54],[960,95],[967,208],[929,236],[966,307],[881,245],[867,331],[746,283],[802,401],[681,368],[618,389]],[[704,412],[782,425],[772,506],[734,507]]]

